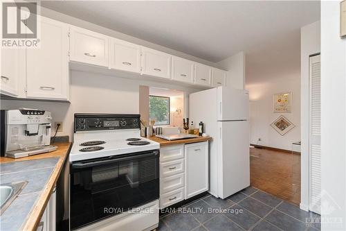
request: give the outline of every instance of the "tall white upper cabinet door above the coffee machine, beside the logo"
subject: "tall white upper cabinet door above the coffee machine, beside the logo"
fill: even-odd
[[[39,47],[26,51],[26,96],[66,100],[69,96],[68,27],[45,17],[39,19]]]

